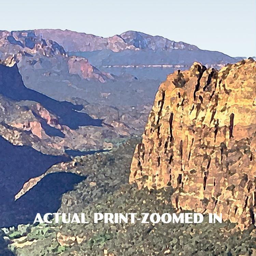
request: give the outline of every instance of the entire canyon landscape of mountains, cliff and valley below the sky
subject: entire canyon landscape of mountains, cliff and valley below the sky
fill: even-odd
[[[137,31],[0,31],[0,254],[253,253],[254,96],[252,58]],[[31,224],[113,209],[205,221]]]

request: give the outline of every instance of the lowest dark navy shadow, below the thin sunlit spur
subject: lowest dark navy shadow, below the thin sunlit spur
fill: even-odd
[[[17,226],[33,223],[37,213],[57,212],[64,193],[86,179],[74,173],[56,172],[47,174],[37,185],[32,187],[18,200],[9,200],[2,204],[0,227]]]

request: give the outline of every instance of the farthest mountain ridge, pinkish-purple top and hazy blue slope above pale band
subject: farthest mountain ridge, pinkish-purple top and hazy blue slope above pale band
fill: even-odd
[[[161,36],[152,36],[138,31],[126,31],[108,38],[60,29],[36,29],[27,32],[33,32],[45,40],[54,40],[63,46],[65,51],[74,54],[76,52],[95,52],[95,54],[103,52],[103,56],[100,54],[95,57],[96,61],[92,65],[112,66],[121,62],[123,65],[150,63],[190,67],[197,61],[207,67],[214,66],[216,68],[216,65],[224,66],[227,63],[235,63],[243,59],[230,57],[217,51],[202,50],[192,44],[175,42]],[[83,57],[87,57],[87,55]],[[94,61],[94,56],[90,57],[93,60],[90,58],[88,60]],[[100,59],[101,57],[103,59]]]

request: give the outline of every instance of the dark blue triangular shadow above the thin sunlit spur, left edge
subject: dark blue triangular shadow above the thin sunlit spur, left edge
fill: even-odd
[[[45,155],[29,146],[15,146],[0,136],[0,205],[14,198],[23,184],[52,165],[69,161],[67,156]]]

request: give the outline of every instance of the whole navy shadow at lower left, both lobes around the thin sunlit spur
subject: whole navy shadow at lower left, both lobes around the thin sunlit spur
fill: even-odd
[[[1,136],[0,156],[0,227],[33,222],[38,212],[56,212],[62,194],[85,179],[73,173],[51,173],[15,201],[14,196],[25,182],[70,157],[44,155],[29,146],[15,146]]]

